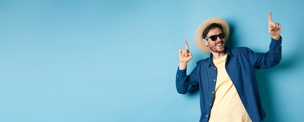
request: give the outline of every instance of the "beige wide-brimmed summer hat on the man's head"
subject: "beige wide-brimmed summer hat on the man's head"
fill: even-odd
[[[223,28],[223,33],[225,33],[225,42],[228,39],[229,36],[229,26],[228,23],[220,18],[220,17],[212,17],[212,18],[208,18],[207,20],[203,21],[203,23],[199,26],[199,28],[196,30],[195,33],[195,45],[196,47],[202,51],[202,52],[211,52],[209,47],[207,47],[204,43],[203,43],[203,31],[206,29],[206,27],[212,23],[218,23],[221,24],[222,28]]]

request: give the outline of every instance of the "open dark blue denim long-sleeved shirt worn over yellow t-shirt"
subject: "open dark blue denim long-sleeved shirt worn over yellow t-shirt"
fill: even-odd
[[[267,69],[279,64],[282,56],[282,37],[271,38],[270,49],[266,53],[253,52],[246,47],[226,49],[226,71],[236,87],[252,122],[261,122],[266,114],[261,104],[255,69]],[[177,70],[176,88],[178,93],[186,94],[199,87],[201,103],[200,122],[208,122],[213,104],[217,68],[210,57],[197,62],[194,70],[186,75],[185,70]]]

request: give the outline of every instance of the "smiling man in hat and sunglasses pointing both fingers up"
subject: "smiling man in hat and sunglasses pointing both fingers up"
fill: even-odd
[[[261,105],[255,69],[267,69],[281,60],[281,25],[271,21],[269,14],[270,50],[253,52],[249,48],[227,49],[225,42],[229,26],[221,18],[205,20],[195,35],[196,46],[210,57],[197,62],[186,75],[186,66],[192,59],[187,42],[179,49],[179,69],[176,73],[178,93],[199,88],[200,122],[261,122],[266,114]]]

